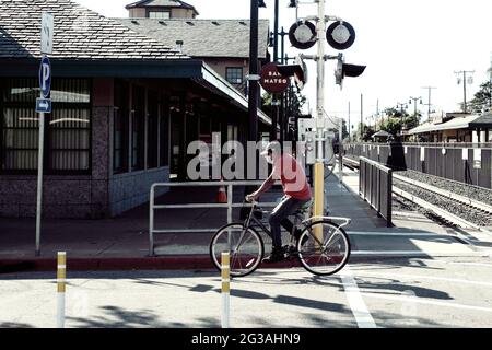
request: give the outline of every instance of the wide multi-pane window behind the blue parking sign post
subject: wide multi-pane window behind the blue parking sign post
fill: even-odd
[[[39,96],[36,79],[2,80],[0,98],[0,171],[37,171]],[[91,170],[91,82],[56,79],[52,114],[45,115],[45,168],[49,174],[85,174]]]

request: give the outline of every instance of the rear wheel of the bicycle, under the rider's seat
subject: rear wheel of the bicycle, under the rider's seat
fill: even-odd
[[[301,264],[309,272],[335,275],[349,261],[349,236],[328,220],[313,222],[302,232],[297,252]]]

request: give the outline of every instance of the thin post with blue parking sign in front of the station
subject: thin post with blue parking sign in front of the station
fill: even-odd
[[[40,51],[45,55],[52,54],[54,18],[44,12],[42,16]],[[51,63],[47,56],[43,56],[39,67],[39,98],[36,100],[36,112],[39,113],[39,137],[37,155],[37,200],[36,200],[36,256],[40,256],[40,226],[43,206],[43,163],[45,145],[45,113],[51,113]]]

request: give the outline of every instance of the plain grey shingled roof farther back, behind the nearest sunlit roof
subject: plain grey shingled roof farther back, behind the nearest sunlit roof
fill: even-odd
[[[183,40],[183,52],[196,57],[249,57],[248,20],[115,19],[131,30],[171,47]],[[258,57],[268,51],[269,21],[259,21]]]

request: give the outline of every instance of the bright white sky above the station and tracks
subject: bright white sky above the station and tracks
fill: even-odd
[[[125,5],[131,0],[75,0],[105,16],[127,18]],[[198,19],[249,19],[249,0],[186,0],[195,5]],[[273,0],[265,0],[261,19],[273,28]],[[301,0],[300,18],[316,15],[312,0]],[[279,27],[295,23],[295,9],[289,0],[279,0]],[[467,83],[467,101],[490,79],[492,61],[492,2],[488,0],[327,0],[327,15],[349,22],[356,32],[352,47],[343,51],[347,63],[367,66],[360,78],[345,78],[343,89],[335,83],[336,60],[325,65],[325,109],[330,116],[374,122],[371,116],[410,97],[422,97],[435,112],[457,112],[464,101],[464,86],[457,84],[456,71],[475,71],[473,83]],[[328,23],[329,25],[330,23]],[[326,43],[326,42],[325,42]],[[285,37],[290,57],[301,51]],[[326,43],[326,54],[337,55]],[[302,51],[316,55],[316,46]],[[306,61],[308,82],[303,90],[312,112],[316,110],[316,65]],[[470,75],[470,74],[469,74]],[[363,104],[361,108],[361,96]],[[420,103],[420,101],[419,101]],[[307,108],[307,106],[306,106]],[[427,106],[418,104],[427,115]],[[413,102],[408,112],[413,114]]]

